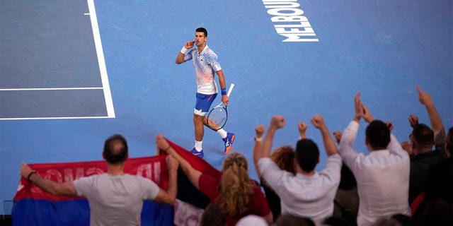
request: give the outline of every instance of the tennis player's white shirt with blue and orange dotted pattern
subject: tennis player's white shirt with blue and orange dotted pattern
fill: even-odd
[[[193,48],[185,54],[185,61],[193,60],[195,66],[195,78],[197,80],[197,93],[214,94],[218,93],[217,83],[215,83],[215,72],[222,70],[217,54],[205,46],[205,49],[198,54],[198,49]]]

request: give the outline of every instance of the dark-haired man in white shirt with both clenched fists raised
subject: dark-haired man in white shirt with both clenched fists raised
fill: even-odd
[[[342,162],[323,117],[315,115],[311,123],[321,131],[323,136],[324,148],[328,156],[324,169],[316,172],[319,149],[314,141],[306,138],[297,142],[295,175],[280,169],[269,158],[274,133],[286,124],[285,118],[279,115],[271,119],[262,150],[257,153],[258,167],[262,177],[280,197],[282,215],[310,218],[316,225],[321,225],[323,220],[333,214],[333,199],[340,183]]]

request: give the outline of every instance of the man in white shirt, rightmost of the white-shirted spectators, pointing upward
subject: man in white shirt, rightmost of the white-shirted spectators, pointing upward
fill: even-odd
[[[357,152],[354,144],[360,118],[369,122],[365,144],[369,155]],[[393,134],[391,124],[374,120],[355,95],[355,116],[343,132],[339,152],[357,180],[359,212],[357,225],[373,225],[394,214],[411,215],[408,204],[410,159]]]

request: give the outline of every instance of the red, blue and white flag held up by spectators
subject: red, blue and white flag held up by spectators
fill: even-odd
[[[200,157],[168,141],[195,169],[215,177],[220,172]],[[161,189],[168,187],[166,154],[154,157],[130,158],[125,163],[125,173],[138,174],[151,179]],[[107,172],[105,161],[30,164],[41,177],[55,182],[71,182],[80,177]],[[178,171],[178,200],[174,206],[154,201],[144,201],[142,225],[196,225],[209,199],[190,184],[185,174]],[[53,196],[38,186],[21,178],[13,198],[13,225],[90,225],[90,208],[84,197]]]

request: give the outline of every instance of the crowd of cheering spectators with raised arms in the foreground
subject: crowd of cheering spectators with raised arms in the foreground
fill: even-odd
[[[255,128],[253,167],[259,182],[249,176],[250,165],[242,153],[233,151],[226,155],[220,176],[212,177],[195,169],[159,134],[156,145],[168,154],[171,186],[165,191],[137,178],[121,183],[123,186],[137,184],[131,190],[135,193],[132,195],[134,201],[151,199],[173,205],[177,193],[176,169],[181,169],[179,172],[183,172],[190,183],[210,200],[198,223],[201,226],[451,226],[453,127],[446,132],[430,95],[418,86],[417,91],[430,122],[420,123],[418,117],[411,114],[408,117],[411,131],[407,141],[398,141],[391,133],[394,129],[391,121],[374,119],[371,110],[360,99],[360,93],[354,97],[352,120],[343,131],[331,133],[323,116],[314,115],[311,124],[321,133],[327,155],[323,169],[319,171],[316,166],[320,163],[321,148],[306,137],[309,126],[304,122],[297,124],[299,141],[294,148],[282,145],[271,150],[275,133],[286,125],[284,116],[275,115],[267,129],[264,125]],[[367,123],[367,151],[354,148],[362,119]],[[122,137],[106,141],[104,157],[110,174],[123,174],[122,167],[117,166],[122,166],[127,156],[127,143]],[[103,191],[99,191],[95,186],[101,179],[58,184],[33,173],[33,169],[26,164],[21,167],[21,175],[52,194],[88,197],[90,206],[97,206],[91,210],[91,215],[97,215],[93,218],[96,222],[92,221],[91,225],[102,225],[103,222],[117,225],[105,216],[109,211],[125,215],[125,212],[118,212],[121,208],[128,209],[127,215],[131,217],[127,222],[133,225],[142,208],[132,203],[130,205],[135,212],[131,213],[127,204],[115,207],[120,209],[105,204],[112,198],[98,194],[105,194],[111,186],[115,186],[117,182],[110,177],[103,178],[102,182],[113,184],[101,186]],[[149,186],[149,191],[140,191],[143,186]],[[120,200],[127,199],[130,198],[122,197]]]

